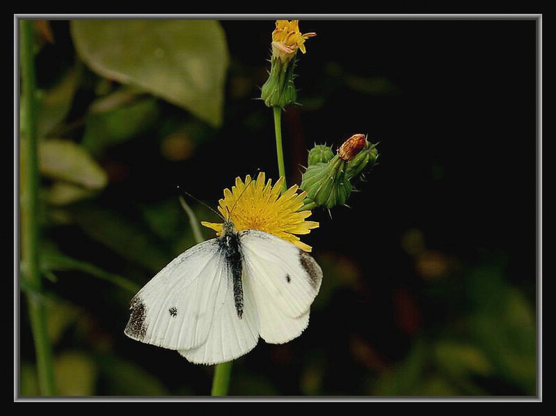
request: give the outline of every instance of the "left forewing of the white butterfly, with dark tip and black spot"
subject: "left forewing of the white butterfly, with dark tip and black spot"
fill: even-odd
[[[214,316],[233,298],[228,273],[217,239],[180,254],[133,297],[126,335],[169,349],[204,344]]]

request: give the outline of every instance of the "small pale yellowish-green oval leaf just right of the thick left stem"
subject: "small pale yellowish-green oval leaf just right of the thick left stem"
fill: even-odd
[[[69,140],[42,140],[39,144],[39,168],[46,176],[99,190],[108,176],[85,149]]]

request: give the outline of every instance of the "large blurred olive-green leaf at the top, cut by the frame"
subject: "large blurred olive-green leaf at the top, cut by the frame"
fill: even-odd
[[[211,20],[75,20],[71,36],[96,73],[222,121],[226,38]]]

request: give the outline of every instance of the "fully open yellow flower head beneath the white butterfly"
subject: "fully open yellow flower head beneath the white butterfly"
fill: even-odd
[[[297,212],[303,206],[306,192],[296,193],[298,186],[294,185],[280,195],[284,178],[278,179],[274,186],[271,186],[270,179],[266,184],[264,182],[264,172],[259,174],[256,181],[249,175],[245,183],[241,178],[236,178],[231,192],[226,188],[224,199],[219,201],[221,215],[230,219],[237,231],[264,231],[296,244],[300,249],[311,251],[311,247],[295,235],[308,234],[319,226],[318,222],[305,221],[311,211]],[[204,221],[201,224],[217,231],[217,235],[222,235],[222,224]]]

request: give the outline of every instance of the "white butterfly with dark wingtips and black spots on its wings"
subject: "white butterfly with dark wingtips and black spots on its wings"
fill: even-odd
[[[192,363],[223,363],[259,337],[298,337],[321,281],[321,267],[294,244],[259,230],[237,233],[225,220],[221,237],[180,254],[137,292],[125,333]]]

